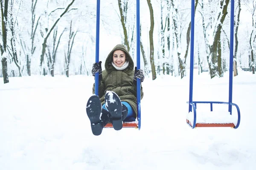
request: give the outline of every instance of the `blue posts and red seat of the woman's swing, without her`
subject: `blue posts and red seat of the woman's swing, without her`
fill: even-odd
[[[137,69],[140,69],[140,0],[137,0],[136,6],[137,17]],[[96,13],[96,57],[95,62],[99,62],[99,16],[100,16],[100,0],[97,0]],[[95,74],[95,94],[99,94],[99,73]],[[141,127],[141,109],[140,109],[140,79],[137,78],[137,121],[134,123],[126,122],[123,127],[136,127],[140,130]]]

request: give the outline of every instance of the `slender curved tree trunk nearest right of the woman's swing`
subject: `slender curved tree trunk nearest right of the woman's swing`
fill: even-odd
[[[153,14],[153,7],[151,4],[151,0],[147,0],[148,8],[150,11],[150,30],[149,30],[149,44],[150,44],[150,64],[151,64],[151,71],[152,71],[152,79],[157,78],[156,68],[154,65],[154,42],[153,42],[153,31],[154,31],[154,14]]]

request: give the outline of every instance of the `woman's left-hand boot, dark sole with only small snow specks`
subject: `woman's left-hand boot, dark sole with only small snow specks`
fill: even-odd
[[[98,136],[102,133],[102,120],[100,118],[102,111],[102,105],[99,96],[93,95],[89,98],[86,105],[87,116],[90,119],[92,132]]]

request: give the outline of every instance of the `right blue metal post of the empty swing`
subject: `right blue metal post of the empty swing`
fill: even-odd
[[[231,0],[231,14],[230,14],[230,79],[229,79],[229,99],[232,103],[232,88],[233,88],[233,45],[234,44],[234,0]],[[232,114],[232,105],[228,106],[228,111]]]

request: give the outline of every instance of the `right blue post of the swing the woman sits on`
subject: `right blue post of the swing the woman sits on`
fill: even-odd
[[[137,69],[140,69],[140,0],[137,0]],[[137,112],[138,128],[141,126],[140,115],[140,79],[137,79]]]

